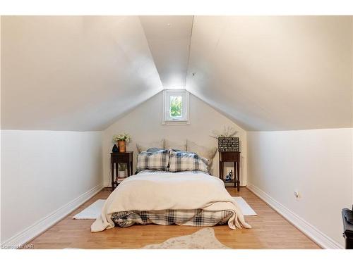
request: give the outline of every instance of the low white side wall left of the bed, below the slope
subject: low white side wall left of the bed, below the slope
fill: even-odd
[[[1,130],[1,244],[101,184],[102,132]]]

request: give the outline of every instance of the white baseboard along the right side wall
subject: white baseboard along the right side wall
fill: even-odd
[[[306,222],[303,218],[296,215],[287,207],[283,206],[281,203],[273,199],[271,196],[265,193],[265,191],[259,189],[255,185],[248,182],[247,188],[253,192],[256,196],[258,196],[261,200],[268,203],[268,205],[273,208],[277,213],[282,215],[285,219],[292,223],[295,227],[297,227],[301,232],[306,234],[306,236],[310,237],[313,241],[316,242],[319,246],[323,247],[323,249],[343,249],[344,247],[328,237],[323,232],[313,227],[309,222]]]

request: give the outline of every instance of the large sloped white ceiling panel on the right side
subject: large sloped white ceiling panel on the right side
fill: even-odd
[[[351,127],[352,34],[349,16],[196,16],[186,89],[246,130]]]

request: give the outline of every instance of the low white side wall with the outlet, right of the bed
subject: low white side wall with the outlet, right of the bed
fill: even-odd
[[[353,203],[352,133],[349,128],[248,132],[249,186],[343,245],[340,213]],[[301,193],[299,201],[294,190]]]

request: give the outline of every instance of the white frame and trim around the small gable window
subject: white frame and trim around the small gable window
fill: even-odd
[[[183,120],[171,120],[169,118],[169,96],[172,94],[183,96]],[[189,125],[189,92],[186,90],[163,91],[163,120],[162,125]]]

